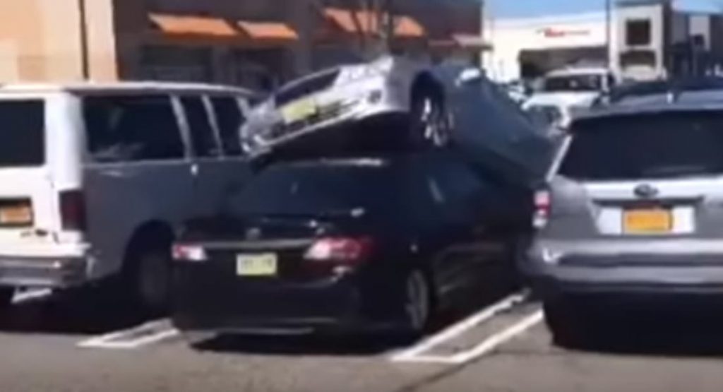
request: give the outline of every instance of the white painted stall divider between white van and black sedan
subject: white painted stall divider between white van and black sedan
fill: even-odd
[[[133,328],[85,339],[77,346],[84,349],[138,349],[179,335],[180,332],[168,320],[153,320]]]

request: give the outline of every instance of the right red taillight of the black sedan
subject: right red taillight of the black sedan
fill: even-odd
[[[318,239],[304,258],[307,260],[330,261],[343,264],[361,263],[372,253],[374,242],[368,237],[328,237]]]

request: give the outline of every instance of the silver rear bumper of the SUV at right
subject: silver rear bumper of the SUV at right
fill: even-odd
[[[540,294],[723,294],[723,242],[536,242],[524,276]]]

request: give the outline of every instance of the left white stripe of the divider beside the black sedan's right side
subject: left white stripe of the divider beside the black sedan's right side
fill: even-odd
[[[474,315],[471,315],[468,318],[459,321],[458,323],[450,325],[448,328],[445,328],[439,333],[433,336],[429,336],[429,338],[422,340],[421,342],[419,342],[419,344],[416,344],[403,351],[395,352],[392,355],[391,360],[393,362],[411,362],[410,359],[414,357],[419,357],[420,354],[422,354],[424,351],[429,351],[429,349],[432,349],[435,346],[444,343],[445,341],[449,341],[450,339],[453,339],[456,336],[459,336],[462,333],[469,331],[476,325],[484,323],[485,321],[495,317],[495,315],[499,314],[500,312],[514,307],[515,304],[524,302],[527,297],[528,294],[526,293],[510,295],[509,297],[502,299],[500,302],[492,304],[489,307],[480,310],[479,312],[476,312]]]

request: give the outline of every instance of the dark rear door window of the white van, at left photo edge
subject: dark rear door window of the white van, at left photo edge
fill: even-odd
[[[0,167],[40,166],[45,162],[43,101],[0,101]]]

